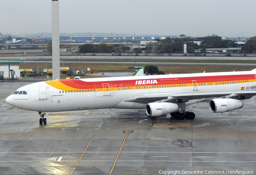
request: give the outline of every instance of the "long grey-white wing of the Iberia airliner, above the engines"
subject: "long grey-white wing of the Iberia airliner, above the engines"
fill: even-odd
[[[125,102],[136,103],[152,103],[156,101],[180,103],[189,100],[204,99],[204,98],[236,98],[236,99],[249,99],[256,95],[256,91],[245,92],[198,92],[198,93],[145,93],[135,94],[126,98]]]

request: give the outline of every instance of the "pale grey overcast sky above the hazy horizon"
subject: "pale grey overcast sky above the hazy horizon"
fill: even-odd
[[[0,32],[51,32],[51,0],[0,0]],[[256,36],[255,0],[59,0],[60,33]]]

